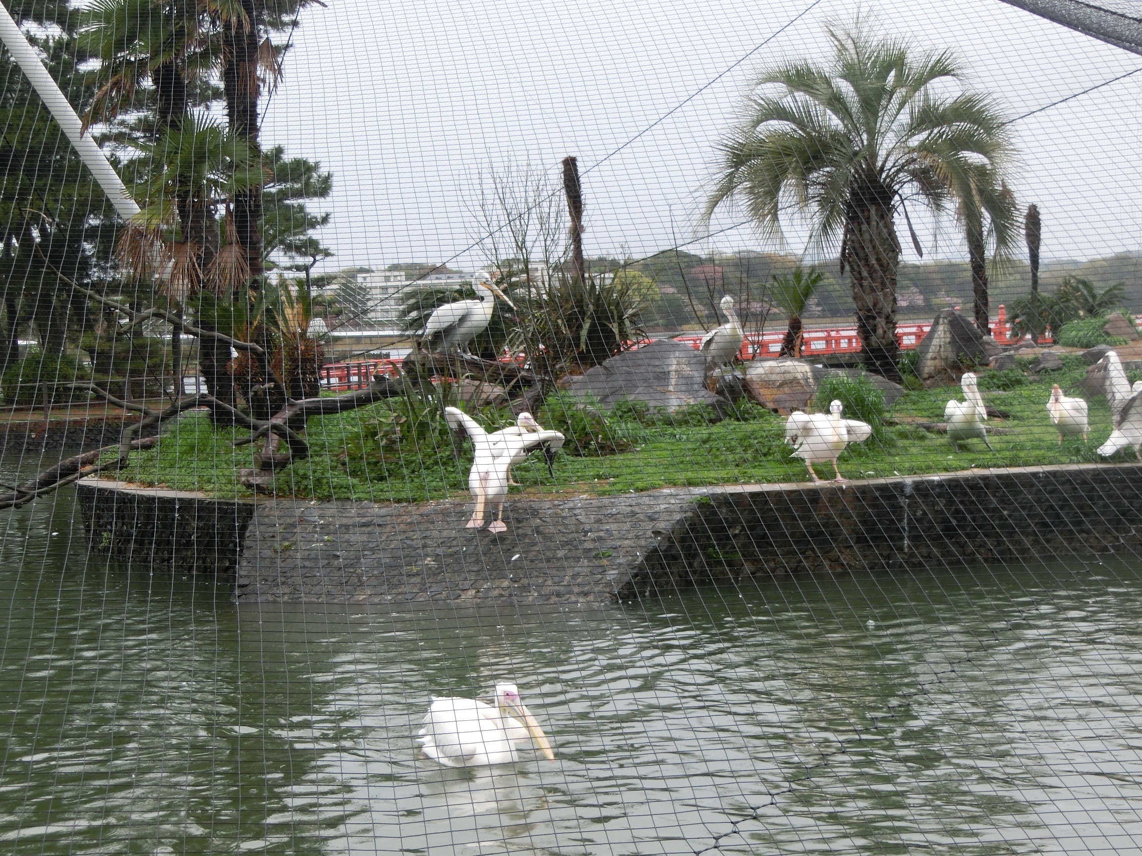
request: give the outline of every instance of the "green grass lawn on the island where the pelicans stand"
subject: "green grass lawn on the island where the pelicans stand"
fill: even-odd
[[[984,399],[1011,414],[1008,419],[989,420],[989,425],[1012,431],[990,436],[994,452],[981,441],[971,441],[957,453],[944,435],[907,423],[908,418],[942,421],[947,401],[962,398],[958,387],[909,391],[887,413],[890,423],[880,438],[849,447],[841,458],[841,471],[847,478],[866,478],[1102,460],[1094,450],[1111,428],[1110,410],[1102,397],[1089,402],[1091,435],[1086,443],[1068,437],[1060,445],[1046,411],[1052,383],[1078,395],[1076,385],[1085,370],[1079,360],[1068,357],[1063,369],[1037,378],[1019,370],[1003,374],[984,372],[981,375]],[[394,435],[397,442],[384,458],[362,452],[361,438],[375,435],[378,420],[391,415],[387,404],[378,404],[311,419],[306,436],[312,454],[278,474],[275,492],[319,500],[402,502],[465,494],[472,459],[468,443],[453,443],[439,433],[407,441],[400,439],[404,435]],[[754,405],[746,405],[740,415],[741,419],[714,423],[693,414],[665,420],[614,420],[610,430],[628,439],[633,444],[630,451],[601,458],[561,453],[554,479],[542,457],[532,455],[513,469],[522,486],[512,490],[611,494],[671,485],[807,479],[804,463],[783,443],[783,417]],[[485,422],[485,427],[493,430],[507,423],[507,415],[499,414],[498,420]],[[223,498],[249,496],[250,490],[238,483],[236,470],[251,466],[254,449],[234,449],[233,441],[240,436],[248,433],[214,430],[203,414],[186,414],[166,429],[156,449],[132,454],[130,466],[119,477]],[[818,471],[822,477],[830,475],[825,467]]]

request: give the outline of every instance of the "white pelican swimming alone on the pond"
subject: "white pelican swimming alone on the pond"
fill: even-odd
[[[433,698],[417,741],[425,754],[445,767],[513,764],[515,744],[531,738],[549,761],[552,744],[520,701],[515,684],[496,685],[496,705],[475,698]]]

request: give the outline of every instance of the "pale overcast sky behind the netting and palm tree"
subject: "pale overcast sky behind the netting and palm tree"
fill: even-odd
[[[826,59],[825,22],[859,10],[878,31],[954,50],[1012,118],[1142,67],[998,0],[330,0],[293,33],[264,140],[333,173],[325,269],[456,253],[471,268],[482,260],[464,253],[481,237],[473,183],[510,162],[557,180],[568,154],[584,173],[586,251],[641,257],[694,236],[714,144],[751,73]],[[1043,212],[1045,257],[1142,249],[1140,95],[1142,73],[1014,124],[1014,189]],[[920,231],[927,257],[959,256],[950,227],[936,244]],[[795,227],[790,237],[798,249]],[[748,227],[690,249],[741,248],[773,249]]]

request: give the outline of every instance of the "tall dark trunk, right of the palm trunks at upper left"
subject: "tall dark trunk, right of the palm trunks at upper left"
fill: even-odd
[[[258,146],[258,46],[262,32],[263,3],[240,0],[246,13],[247,25],[234,23],[225,33],[227,57],[223,67],[223,91],[226,96],[226,115],[231,129],[249,140],[251,148]],[[254,282],[265,272],[262,261],[262,191],[254,188],[234,195],[234,233],[238,244],[246,253]]]

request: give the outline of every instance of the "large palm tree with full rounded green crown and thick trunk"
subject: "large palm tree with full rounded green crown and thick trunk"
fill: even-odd
[[[962,72],[948,53],[914,57],[859,29],[827,32],[827,66],[787,62],[757,75],[743,121],[718,144],[705,217],[737,199],[763,236],[780,239],[787,207],[810,216],[811,247],[839,243],[867,363],[899,379],[895,216],[907,218],[911,199],[938,213],[955,205],[979,164],[1002,179],[1011,144],[988,97],[949,91]]]

